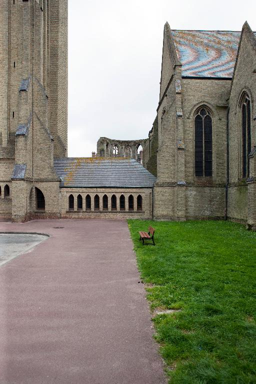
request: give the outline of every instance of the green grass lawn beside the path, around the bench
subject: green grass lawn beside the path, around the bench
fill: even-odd
[[[155,228],[155,246],[138,230]],[[171,384],[256,383],[256,233],[224,221],[128,220]]]

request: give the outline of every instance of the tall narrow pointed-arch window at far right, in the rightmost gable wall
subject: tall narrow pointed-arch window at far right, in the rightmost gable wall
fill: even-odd
[[[250,114],[250,99],[245,93],[241,99],[241,165],[242,165],[242,177],[249,176],[249,158],[248,155],[251,150],[251,124]]]

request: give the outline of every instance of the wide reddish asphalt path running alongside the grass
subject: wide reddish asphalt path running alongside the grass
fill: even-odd
[[[125,221],[0,231],[50,234],[0,267],[0,384],[165,383]]]

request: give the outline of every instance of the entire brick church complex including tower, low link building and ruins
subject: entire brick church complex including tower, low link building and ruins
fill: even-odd
[[[0,48],[0,219],[226,217],[256,230],[247,23],[241,32],[166,23],[148,138],[101,138],[93,158],[67,157],[67,0],[2,0]]]

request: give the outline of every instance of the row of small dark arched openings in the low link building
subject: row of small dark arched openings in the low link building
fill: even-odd
[[[100,210],[100,197],[98,194],[91,196],[87,194],[85,196],[85,206],[83,205],[83,198],[81,194],[78,194],[76,197],[77,200],[77,211],[99,211]],[[68,211],[74,211],[74,195],[71,193],[68,195]],[[111,211],[142,211],[142,196],[138,194],[137,196],[133,196],[130,194],[125,199],[125,196],[121,194],[119,196],[119,205],[117,206],[117,197],[115,194],[112,194],[109,198],[106,194],[102,196],[102,210],[111,210]]]

